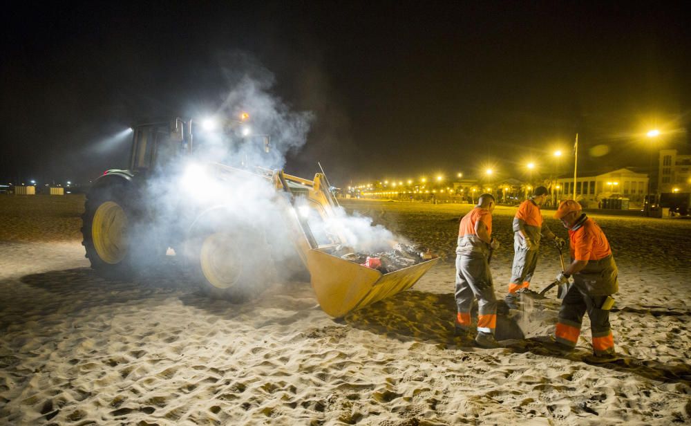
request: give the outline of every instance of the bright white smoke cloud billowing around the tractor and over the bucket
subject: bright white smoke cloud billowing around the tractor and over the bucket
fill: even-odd
[[[194,257],[189,248],[193,252],[199,246],[191,241],[220,232],[223,241],[235,246],[229,250],[229,257],[240,258],[249,285],[256,285],[271,281],[277,270],[290,275],[303,270],[303,266],[286,222],[286,194],[276,191],[269,179],[253,174],[247,166],[283,168],[286,154],[305,144],[313,115],[291,111],[270,93],[273,75],[247,57],[240,59],[249,68],[242,73],[228,71],[229,80],[235,84],[223,97],[216,115],[239,117],[247,111],[252,132],[270,135],[269,153],[263,149],[262,138],[207,135],[200,140],[192,158],[161,165],[149,179],[145,197],[155,201],[155,207],[146,220],[133,224],[131,235],[132,241],[140,242],[135,244],[135,252],[146,248],[147,242],[159,240],[163,246],[175,248],[176,253]],[[226,165],[239,166],[247,172],[237,172]],[[306,203],[299,199],[297,210]],[[404,242],[381,225],[372,226],[372,219],[348,216],[341,207],[334,209],[326,220],[312,209],[309,215],[308,223],[320,244],[334,242],[332,236],[337,235],[355,252],[371,253],[390,250],[396,242]],[[181,223],[184,227],[171,228]],[[146,263],[151,254],[142,250],[135,257]]]

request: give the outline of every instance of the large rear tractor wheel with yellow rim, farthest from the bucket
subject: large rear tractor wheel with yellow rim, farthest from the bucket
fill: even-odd
[[[82,244],[91,267],[109,279],[132,275],[128,230],[134,220],[131,196],[124,185],[93,189],[82,214]]]

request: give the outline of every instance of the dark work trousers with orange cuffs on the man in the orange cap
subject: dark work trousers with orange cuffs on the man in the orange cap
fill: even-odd
[[[603,356],[614,353],[614,337],[609,326],[609,311],[600,309],[607,296],[591,296],[578,290],[573,284],[569,286],[566,297],[559,308],[555,337],[557,342],[574,348],[580,335],[583,315],[587,312],[590,318],[590,331],[593,336],[593,352]]]

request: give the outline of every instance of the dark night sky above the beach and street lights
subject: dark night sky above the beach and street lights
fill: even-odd
[[[314,113],[287,172],[310,177],[321,161],[339,186],[472,178],[489,163],[520,178],[528,158],[547,171],[553,149],[571,155],[576,132],[583,170],[646,166],[651,127],[691,152],[683,3],[374,3],[6,3],[0,178],[124,167],[129,140],[104,141],[215,111],[244,72],[238,52]]]

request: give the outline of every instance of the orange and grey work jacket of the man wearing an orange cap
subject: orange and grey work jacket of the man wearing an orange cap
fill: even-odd
[[[574,284],[591,296],[613,295],[619,290],[612,248],[600,226],[585,213],[569,229],[571,261],[588,261],[574,274]]]

